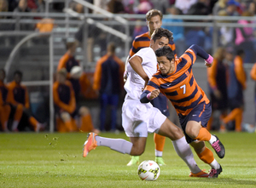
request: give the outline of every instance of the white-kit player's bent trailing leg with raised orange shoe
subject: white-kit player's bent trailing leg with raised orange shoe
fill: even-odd
[[[147,123],[141,122],[134,129],[133,133],[126,132],[129,136],[131,134],[131,142],[123,139],[110,139],[97,134],[90,133],[87,140],[84,142],[84,154],[83,157],[88,155],[88,152],[95,150],[97,146],[106,146],[114,151],[120,153],[127,153],[132,156],[140,156],[143,154],[148,137]],[[133,137],[132,135],[139,135]]]

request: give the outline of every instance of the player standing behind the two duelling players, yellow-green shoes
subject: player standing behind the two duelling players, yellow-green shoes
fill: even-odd
[[[137,36],[132,42],[132,47],[130,50],[130,54],[128,59],[131,58],[132,55],[136,54],[142,48],[148,48],[150,43],[150,38],[155,31],[156,28],[159,28],[162,25],[163,14],[160,10],[151,9],[146,14],[148,32],[143,33],[142,35]],[[175,44],[172,40],[169,41],[168,45],[175,52],[175,56],[177,56],[175,51]],[[125,67],[126,68],[126,67]],[[159,97],[151,101],[154,107],[158,108],[162,114],[166,117],[170,116],[167,99],[166,96],[160,94]],[[155,162],[157,162],[160,166],[165,165],[165,162],[162,158],[163,150],[166,142],[166,137],[161,136],[159,134],[154,134],[154,145],[155,145]],[[127,166],[131,166],[134,164],[139,164],[139,157],[131,157],[131,161],[128,162]]]

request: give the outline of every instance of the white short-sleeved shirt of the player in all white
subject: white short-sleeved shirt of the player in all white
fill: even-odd
[[[146,72],[149,78],[152,77],[152,75],[157,71],[157,60],[154,50],[150,47],[142,48],[132,57],[136,55],[143,59],[143,70]],[[127,92],[129,98],[139,100],[141,94],[143,93],[142,89],[144,88],[145,81],[136,73],[136,71],[131,68],[129,63],[127,64],[127,72],[128,78],[125,82],[125,91]]]

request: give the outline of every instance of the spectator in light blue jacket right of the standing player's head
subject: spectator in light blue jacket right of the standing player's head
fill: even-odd
[[[181,14],[180,9],[177,9],[174,6],[172,6],[172,8],[170,8],[170,9],[167,9],[167,12],[170,13],[171,15]],[[162,27],[166,28],[169,31],[172,31],[173,42],[178,43],[178,45],[176,45],[176,52],[177,52],[177,56],[179,57],[186,50],[185,37],[184,37],[184,28],[183,28],[183,26],[165,26],[165,24],[172,23],[172,22],[182,23],[183,20],[181,20],[181,19],[172,19],[171,15],[170,16],[167,15],[163,18]]]

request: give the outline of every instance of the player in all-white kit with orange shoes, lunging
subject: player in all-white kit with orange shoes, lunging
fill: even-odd
[[[163,28],[154,31],[150,46],[134,54],[127,66],[128,78],[125,83],[125,102],[122,108],[122,125],[131,142],[122,139],[109,139],[90,133],[84,142],[83,157],[96,146],[107,146],[114,151],[131,156],[143,154],[149,133],[157,133],[172,140],[177,155],[188,165],[190,177],[208,177],[197,166],[193,153],[187,144],[183,131],[173,124],[159,109],[150,103],[142,104],[140,96],[148,80],[157,71],[157,60],[154,51],[168,45],[172,40],[172,32]]]

